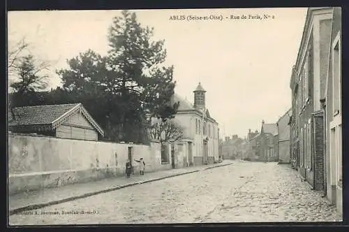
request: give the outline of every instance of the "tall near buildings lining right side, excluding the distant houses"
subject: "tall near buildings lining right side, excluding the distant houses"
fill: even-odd
[[[292,68],[292,166],[342,212],[341,8],[309,8]]]

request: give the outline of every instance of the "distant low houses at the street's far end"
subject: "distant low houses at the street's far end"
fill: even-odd
[[[251,161],[278,161],[290,163],[290,116],[288,110],[278,122],[262,121],[260,131],[248,130],[245,138],[237,135],[221,140],[224,159],[248,159]]]

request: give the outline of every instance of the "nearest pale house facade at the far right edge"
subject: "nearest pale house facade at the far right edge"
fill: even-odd
[[[325,131],[325,178],[327,198],[343,213],[342,102],[341,102],[341,8],[333,8],[325,92],[321,99]]]

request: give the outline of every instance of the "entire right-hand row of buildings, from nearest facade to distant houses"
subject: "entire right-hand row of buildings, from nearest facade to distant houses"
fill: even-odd
[[[223,157],[290,163],[343,212],[341,8],[309,8],[290,78],[292,108],[246,138],[220,141]]]

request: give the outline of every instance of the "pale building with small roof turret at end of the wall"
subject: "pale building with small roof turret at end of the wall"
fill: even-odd
[[[174,119],[184,127],[179,143],[186,152],[188,166],[213,164],[219,160],[218,123],[205,106],[206,91],[200,83],[193,93],[193,104],[177,94],[172,96],[172,102],[179,102]]]

